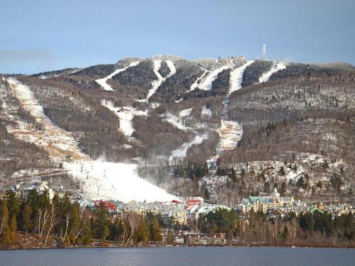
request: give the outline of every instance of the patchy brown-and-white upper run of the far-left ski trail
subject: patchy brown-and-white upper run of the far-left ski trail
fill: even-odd
[[[21,84],[16,79],[6,79],[10,84],[12,95],[17,99],[18,103],[25,111],[35,118],[35,121],[42,126],[42,130],[34,128],[28,123],[23,123],[21,119],[12,120],[18,124],[16,128],[8,128],[9,133],[16,138],[44,148],[48,151],[50,157],[58,159],[71,155],[75,160],[88,160],[89,157],[80,151],[77,141],[71,133],[56,126],[50,119],[45,116],[43,106],[41,106],[33,92],[26,85]]]

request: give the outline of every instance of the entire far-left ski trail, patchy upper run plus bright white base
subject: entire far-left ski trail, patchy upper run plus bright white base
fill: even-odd
[[[45,116],[43,107],[35,99],[33,92],[16,79],[6,79],[10,84],[9,92],[0,91],[1,99],[6,100],[7,94],[12,94],[25,111],[31,113],[42,130],[34,128],[22,121],[16,106],[10,106],[4,101],[1,115],[16,127],[8,127],[7,131],[23,141],[34,143],[46,150],[50,157],[62,162],[63,168],[70,171],[72,176],[80,181],[84,197],[89,199],[114,199],[119,201],[170,201],[177,199],[163,189],[142,179],[137,174],[138,165],[93,161],[77,147],[75,138],[67,131],[55,126],[50,118]],[[63,162],[62,157],[71,155],[73,162]]]

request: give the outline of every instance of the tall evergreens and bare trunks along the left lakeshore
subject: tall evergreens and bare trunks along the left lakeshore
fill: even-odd
[[[21,244],[16,231],[34,235],[40,247],[90,245],[94,240],[126,246],[162,239],[158,217],[153,214],[126,213],[122,218],[111,218],[103,203],[94,210],[80,209],[67,195],[56,195],[50,201],[48,194],[34,190],[26,199],[7,192],[0,200],[0,248]]]

